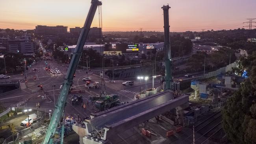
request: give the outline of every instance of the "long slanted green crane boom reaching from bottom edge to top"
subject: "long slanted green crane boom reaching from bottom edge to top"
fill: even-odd
[[[52,118],[49,124],[49,127],[47,129],[45,138],[43,140],[43,144],[52,144],[53,139],[54,139],[54,133],[56,131],[56,128],[58,126],[59,120],[61,118],[61,115],[63,114],[66,99],[67,99],[67,94],[70,89],[70,85],[72,85],[73,82],[73,76],[74,73],[76,72],[76,67],[79,63],[80,56],[82,54],[83,46],[85,44],[85,40],[88,36],[91,23],[93,22],[93,17],[96,13],[96,9],[98,6],[101,6],[102,3],[98,0],[91,0],[91,7],[89,9],[87,18],[85,20],[85,23],[83,25],[81,34],[79,36],[78,42],[76,44],[76,49],[73,53],[69,69],[67,71],[67,74],[64,78],[64,83],[62,85],[62,88],[59,93],[58,101],[54,107],[54,112],[52,114]]]

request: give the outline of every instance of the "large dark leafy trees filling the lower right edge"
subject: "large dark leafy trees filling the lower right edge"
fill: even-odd
[[[234,144],[256,144],[256,52],[242,57],[236,72],[248,72],[223,109],[223,128]]]

